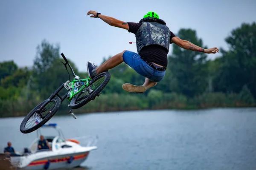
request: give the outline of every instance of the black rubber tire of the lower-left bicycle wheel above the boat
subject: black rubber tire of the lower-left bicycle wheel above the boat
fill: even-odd
[[[44,100],[44,102],[47,100]],[[34,112],[42,105],[44,104],[44,102],[41,102],[39,105],[37,105],[32,111],[29,112],[29,114],[27,114],[27,116],[23,119],[23,121],[20,124],[20,132],[21,133],[31,133],[35,130],[37,130],[39,127],[43,126],[46,122],[49,121],[49,119],[52,118],[53,115],[55,115],[55,113],[58,111],[60,105],[61,105],[61,99],[58,96],[55,96],[55,98],[53,98],[52,100],[50,100],[49,102],[55,101],[55,106],[54,108],[51,110],[51,112],[41,121],[39,122],[37,125],[26,129],[25,125],[28,122],[29,118],[32,117],[34,115]],[[48,103],[49,103],[48,102]]]

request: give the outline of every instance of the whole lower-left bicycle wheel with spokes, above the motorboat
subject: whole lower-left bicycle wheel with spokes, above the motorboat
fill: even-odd
[[[45,100],[47,101],[47,100]],[[44,102],[45,102],[44,101]],[[59,97],[55,97],[44,106],[41,110],[41,113],[37,113],[36,110],[44,104],[41,102],[37,105],[29,114],[23,119],[20,124],[20,132],[22,133],[31,133],[37,130],[39,127],[43,126],[52,116],[58,111],[58,108],[61,105],[61,99]],[[43,118],[41,116],[43,116]]]

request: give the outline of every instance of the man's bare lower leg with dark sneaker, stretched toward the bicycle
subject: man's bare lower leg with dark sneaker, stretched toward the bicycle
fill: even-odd
[[[119,54],[114,55],[107,61],[105,61],[102,65],[99,67],[95,67],[92,62],[87,62],[87,71],[88,71],[88,76],[93,79],[96,77],[98,74],[107,71],[111,68],[116,67],[117,65],[121,64],[124,60],[122,55],[124,54],[126,50],[122,51]]]

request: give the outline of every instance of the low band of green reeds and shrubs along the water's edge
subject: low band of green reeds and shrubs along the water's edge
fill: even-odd
[[[156,91],[156,90],[155,90]],[[87,105],[73,110],[75,114],[83,113],[102,113],[116,111],[143,111],[143,110],[201,110],[209,108],[247,108],[256,107],[254,102],[250,102],[250,96],[247,95],[246,89],[240,94],[222,94],[212,93],[203,94],[193,99],[186,99],[185,96],[179,96],[175,93],[163,94],[160,99],[155,100],[153,97],[148,99],[147,96],[137,96],[137,94],[101,94],[95,100],[90,101]],[[151,94],[149,94],[151,95]],[[109,100],[111,99],[111,100]],[[26,116],[41,100],[37,102],[15,100],[0,100],[1,110],[0,117],[17,117]],[[19,105],[20,107],[16,107]],[[55,115],[69,114],[68,101],[64,101]],[[12,113],[12,114],[11,114]]]

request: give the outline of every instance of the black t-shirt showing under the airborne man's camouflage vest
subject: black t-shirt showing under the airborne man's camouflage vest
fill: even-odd
[[[136,34],[138,29],[141,26],[141,23],[128,23],[129,30],[128,32]],[[172,44],[171,40],[173,37],[176,37],[175,34],[171,31],[171,39],[170,43]],[[161,45],[148,45],[143,47],[140,50],[140,56],[143,60],[154,62],[156,64],[162,65],[167,68],[168,60],[167,60],[168,51]]]

